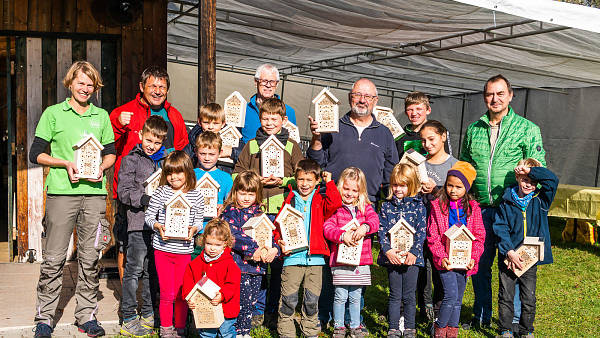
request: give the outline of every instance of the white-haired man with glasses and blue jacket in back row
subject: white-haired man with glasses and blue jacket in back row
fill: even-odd
[[[260,104],[273,96],[279,98],[275,91],[279,84],[279,70],[277,67],[265,63],[256,68],[254,74],[254,84],[256,85],[256,94],[254,94],[246,105],[246,120],[242,128],[242,141],[248,143],[250,139],[256,136],[256,131],[260,128],[259,106]],[[290,122],[296,124],[296,112],[294,108],[285,105],[285,114]]]

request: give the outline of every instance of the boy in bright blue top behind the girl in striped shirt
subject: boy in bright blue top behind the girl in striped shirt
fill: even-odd
[[[221,136],[212,131],[205,131],[198,135],[195,146],[197,158],[196,164],[198,166],[194,169],[196,181],[202,178],[205,173],[208,173],[215,181],[217,181],[217,183],[219,183],[217,205],[218,209],[221,210],[223,202],[225,201],[227,194],[229,194],[229,190],[231,190],[231,185],[233,184],[230,174],[221,169],[217,169],[217,160],[219,159],[223,146]],[[209,218],[205,217],[204,225],[206,225],[206,222],[209,220]],[[200,230],[200,233],[202,233],[202,230]],[[196,245],[194,253],[192,254],[192,259],[195,259],[196,256],[200,254],[200,251],[202,251],[202,247]]]

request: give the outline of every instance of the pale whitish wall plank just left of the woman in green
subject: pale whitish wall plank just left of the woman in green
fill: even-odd
[[[42,39],[27,38],[27,146],[33,143],[35,128],[42,116]],[[29,153],[29,152],[27,152]],[[29,207],[29,249],[42,261],[42,219],[44,218],[44,169],[28,162],[27,206]]]

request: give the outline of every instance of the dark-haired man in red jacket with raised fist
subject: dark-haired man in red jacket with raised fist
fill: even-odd
[[[188,135],[181,113],[167,101],[169,92],[169,74],[163,68],[151,66],[142,72],[140,78],[140,93],[135,99],[115,108],[110,113],[110,122],[115,133],[115,148],[117,160],[113,178],[113,199],[117,201],[115,215],[115,235],[119,244],[117,258],[119,276],[123,278],[123,249],[126,246],[127,221],[117,199],[117,183],[119,168],[123,157],[140,143],[140,131],[150,115],[159,115],[168,126],[167,138],[163,142],[164,150],[158,155],[166,155],[172,150],[183,150],[188,144]]]

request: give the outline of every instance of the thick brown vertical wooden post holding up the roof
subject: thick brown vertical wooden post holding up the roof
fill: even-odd
[[[200,0],[198,7],[198,106],[216,99],[216,0]]]

